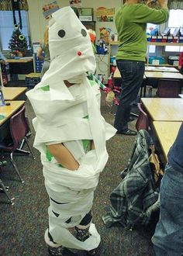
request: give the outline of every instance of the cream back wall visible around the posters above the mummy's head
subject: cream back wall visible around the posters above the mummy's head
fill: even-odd
[[[43,31],[47,26],[47,20],[43,18],[42,6],[52,2],[53,0],[28,0],[29,4],[29,25],[30,36],[32,42],[40,42],[43,40]],[[82,7],[94,9],[104,6],[106,8],[115,8],[115,11],[121,6],[122,0],[82,0]],[[61,7],[69,5],[69,0],[57,0],[58,5]],[[116,27],[114,22],[96,22],[96,33],[98,37],[100,27],[109,27],[114,33],[116,33]]]

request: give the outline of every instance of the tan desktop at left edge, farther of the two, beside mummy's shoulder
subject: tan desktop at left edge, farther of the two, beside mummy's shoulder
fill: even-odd
[[[2,87],[5,100],[14,100],[26,92],[26,87]]]

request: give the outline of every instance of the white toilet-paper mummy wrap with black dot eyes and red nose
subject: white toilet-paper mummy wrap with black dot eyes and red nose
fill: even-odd
[[[93,195],[98,176],[108,160],[105,140],[116,129],[101,116],[98,85],[88,81],[86,75],[95,71],[90,37],[70,7],[54,12],[49,22],[49,47],[50,68],[40,84],[26,93],[36,113],[34,147],[41,153],[50,197],[45,240],[52,247],[63,245],[90,251],[100,243],[90,218]],[[67,87],[64,80],[74,85]],[[91,140],[95,150],[91,150]],[[50,154],[47,145],[59,143],[78,161],[78,170],[64,168]],[[85,241],[69,231],[71,227],[81,226],[89,227],[90,235]]]

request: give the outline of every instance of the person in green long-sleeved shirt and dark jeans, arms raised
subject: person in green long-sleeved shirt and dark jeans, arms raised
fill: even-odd
[[[128,121],[131,104],[143,83],[147,22],[161,24],[167,22],[169,16],[167,0],[157,2],[160,9],[152,9],[148,5],[140,4],[138,0],[126,0],[116,13],[115,22],[119,36],[116,62],[122,76],[122,93],[114,126],[119,134],[136,135],[136,131],[129,130]]]

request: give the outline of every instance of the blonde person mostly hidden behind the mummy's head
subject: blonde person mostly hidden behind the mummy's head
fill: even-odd
[[[44,57],[43,57],[44,52]],[[37,57],[40,60],[44,60],[42,71],[41,71],[41,77],[43,77],[43,74],[47,72],[47,70],[50,67],[50,51],[49,51],[49,44],[48,44],[48,26],[46,27],[44,31],[44,39],[43,43],[41,43],[40,48],[37,51]]]

